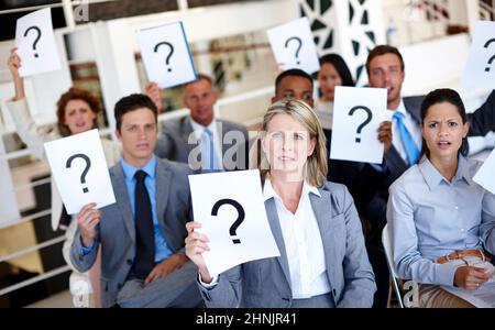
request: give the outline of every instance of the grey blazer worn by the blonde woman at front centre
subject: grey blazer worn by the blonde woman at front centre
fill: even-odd
[[[324,250],[327,276],[336,307],[371,307],[376,290],[364,248],[361,222],[343,185],[326,183],[321,197],[310,195]],[[265,201],[280,256],[235,266],[212,288],[199,285],[207,307],[279,308],[293,304],[290,275],[275,200]]]

